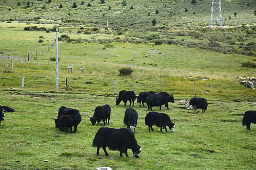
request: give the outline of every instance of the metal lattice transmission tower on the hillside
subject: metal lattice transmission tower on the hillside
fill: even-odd
[[[218,1],[218,3],[215,4],[215,1]],[[211,28],[212,28],[212,25],[215,20],[219,23],[219,26],[221,26],[221,28],[222,28],[222,15],[221,15],[220,0],[213,0],[213,3],[212,3]]]

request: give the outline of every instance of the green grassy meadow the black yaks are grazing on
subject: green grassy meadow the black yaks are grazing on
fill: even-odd
[[[243,27],[223,32],[206,30],[204,34],[203,30],[165,30],[164,35],[160,34],[161,30],[146,30],[145,34],[137,30],[134,36],[129,29],[117,35],[111,29],[110,34],[104,34],[100,28],[98,32],[90,30],[91,34],[68,34],[71,42],[59,41],[59,90],[56,90],[56,62],[50,61],[56,56],[56,48],[48,51],[56,33],[22,31],[25,26],[18,22],[0,23],[4,28],[0,32],[0,104],[16,109],[6,113],[1,121],[0,170],[95,170],[105,166],[113,170],[255,169],[256,124],[247,131],[241,122],[245,111],[255,110],[252,103],[256,102],[256,91],[234,83],[238,77],[256,75],[255,68],[241,67],[244,62],[255,62],[255,48],[248,45],[255,41],[255,30],[249,30],[252,34],[246,34]],[[45,27],[53,25],[45,24]],[[79,31],[79,27],[74,30]],[[228,32],[231,39],[220,38]],[[63,34],[67,33],[59,32],[59,37]],[[168,35],[174,43],[163,41],[156,45],[160,39],[154,37],[156,34],[166,39]],[[197,34],[202,38],[195,38]],[[242,46],[250,47],[251,52],[243,55],[203,49],[200,44],[208,44],[213,36],[219,38],[223,49],[241,51],[239,46]],[[246,38],[239,42],[237,37]],[[43,42],[39,43],[39,39]],[[229,47],[233,41],[244,45],[235,43]],[[196,43],[198,46],[192,46]],[[42,50],[46,51],[42,54]],[[28,53],[32,54],[30,61],[27,61]],[[68,64],[75,65],[74,72],[69,73]],[[86,68],[83,73],[80,67]],[[132,75],[120,76],[118,69],[124,67],[131,67]],[[24,88],[21,88],[22,74]],[[70,83],[67,89],[66,78]],[[156,126],[154,132],[149,132],[144,123],[149,111],[135,103],[138,112],[135,136],[142,147],[138,159],[131,150],[128,150],[129,158],[119,157],[118,151],[109,149],[110,156],[104,156],[102,149],[100,156],[96,156],[96,148],[92,147],[103,123],[92,126],[86,115],[92,116],[96,106],[111,106],[107,127],[125,127],[123,117],[128,106],[123,102],[116,105],[114,79],[118,92],[133,90],[138,96],[141,91],[158,90],[167,91],[175,98],[175,103],[169,103],[170,110],[153,107],[175,121],[174,133],[160,132]],[[193,81],[197,97],[204,97],[209,103],[205,113],[201,109],[187,110],[178,102],[194,97]],[[79,110],[82,121],[77,133],[64,133],[55,128],[51,116],[58,115],[62,105]]]

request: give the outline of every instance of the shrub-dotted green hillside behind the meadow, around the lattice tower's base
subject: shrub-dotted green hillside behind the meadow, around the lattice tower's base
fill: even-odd
[[[18,6],[18,1],[0,0],[0,20],[52,23],[58,17],[59,23],[65,26],[106,27],[109,18],[108,27],[113,28],[153,26],[155,18],[158,26],[183,28],[186,23],[187,28],[192,28],[209,25],[212,5],[211,0],[197,0],[195,4],[191,0],[126,0],[125,6],[122,0],[105,0],[105,3],[83,0],[84,4],[81,0],[20,0]],[[222,0],[221,7],[223,25],[249,24],[249,19],[251,23],[256,22],[255,0]]]

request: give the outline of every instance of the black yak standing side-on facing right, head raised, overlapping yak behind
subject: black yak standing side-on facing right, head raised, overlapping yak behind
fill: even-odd
[[[153,106],[161,106],[164,104],[167,109],[168,107],[168,102],[174,103],[174,97],[173,94],[170,96],[167,92],[160,92],[157,94],[151,94],[146,98],[146,103],[148,105],[148,110],[152,110]]]

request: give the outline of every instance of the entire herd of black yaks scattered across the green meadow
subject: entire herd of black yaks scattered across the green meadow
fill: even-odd
[[[134,91],[122,90],[119,92],[118,98],[116,98],[116,104],[118,105],[121,101],[123,101],[124,105],[126,106],[127,101],[129,101],[129,106],[131,106],[132,103],[134,106],[135,99],[136,95]],[[174,103],[174,97],[173,94],[169,95],[167,92],[160,92],[156,94],[153,91],[147,91],[139,93],[139,106],[141,102],[143,106],[146,102],[148,105],[148,110],[150,109],[151,111],[152,107],[154,106],[159,106],[159,109],[161,110],[162,105],[165,105],[167,109],[169,109],[168,102]],[[187,108],[193,108],[195,110],[200,108],[202,109],[202,112],[205,112],[205,110],[207,109],[207,105],[208,103],[204,98],[192,98],[190,102],[187,103]],[[1,120],[4,120],[5,112],[14,111],[15,109],[11,107],[0,105],[0,123]],[[99,124],[99,122],[102,120],[105,126],[106,123],[109,124],[110,115],[111,108],[108,104],[105,104],[102,106],[97,106],[95,108],[93,117],[90,117],[88,115],[87,116],[90,118],[92,125],[95,125],[96,122],[98,122]],[[59,108],[58,117],[54,120],[55,126],[61,131],[66,129],[67,132],[70,128],[70,132],[72,133],[72,126],[74,126],[74,132],[77,131],[77,127],[81,122],[81,115],[79,113],[79,110],[77,109],[61,106]],[[128,157],[127,149],[131,149],[133,151],[133,155],[138,158],[139,153],[141,152],[141,147],[138,145],[134,135],[137,120],[137,111],[134,108],[129,107],[124,113],[123,120],[123,123],[126,124],[127,128],[114,129],[101,127],[96,133],[93,140],[93,146],[97,147],[97,155],[99,155],[99,149],[102,147],[105,155],[108,156],[108,153],[106,151],[106,147],[108,147],[111,150],[120,151],[120,156],[122,156],[122,153],[125,153],[126,157]],[[242,125],[246,125],[247,130],[251,130],[251,123],[256,123],[256,111],[246,111],[244,114],[244,117],[242,119]],[[149,131],[154,131],[152,128],[153,125],[160,127],[161,132],[162,128],[165,129],[165,131],[167,132],[166,126],[169,127],[171,132],[174,132],[175,128],[175,122],[173,123],[171,121],[169,115],[158,112],[149,112],[145,117],[145,124],[148,126]]]

